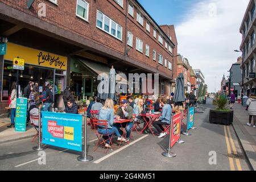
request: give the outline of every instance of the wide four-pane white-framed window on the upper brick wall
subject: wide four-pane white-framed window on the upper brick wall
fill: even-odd
[[[96,26],[115,38],[122,40],[122,27],[98,10]]]

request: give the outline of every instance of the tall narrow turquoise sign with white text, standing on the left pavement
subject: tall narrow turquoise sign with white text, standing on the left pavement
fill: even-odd
[[[17,98],[15,113],[15,131],[25,132],[27,122],[27,98]]]

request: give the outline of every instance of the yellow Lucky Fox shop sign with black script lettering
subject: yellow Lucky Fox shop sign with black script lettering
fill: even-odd
[[[13,60],[14,57],[22,57],[26,64],[40,65],[42,67],[67,70],[68,58],[54,53],[40,51],[38,49],[7,43],[5,59]]]

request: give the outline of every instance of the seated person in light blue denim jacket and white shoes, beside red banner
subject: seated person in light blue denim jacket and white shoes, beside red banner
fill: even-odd
[[[172,114],[172,109],[170,104],[167,104],[167,99],[164,98],[163,100],[160,100],[160,104],[163,106],[163,112],[162,115],[155,120],[153,123],[153,126],[155,127],[156,130],[160,133],[158,138],[162,138],[167,135],[167,133],[163,133],[164,128],[162,125],[170,125],[171,123],[171,114]]]

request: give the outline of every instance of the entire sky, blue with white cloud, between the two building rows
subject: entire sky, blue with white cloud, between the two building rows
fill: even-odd
[[[138,0],[160,24],[174,24],[178,53],[201,69],[208,92],[221,88],[223,73],[241,53],[240,26],[250,0]],[[216,85],[216,86],[215,86]]]

